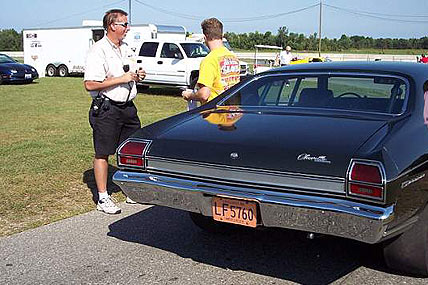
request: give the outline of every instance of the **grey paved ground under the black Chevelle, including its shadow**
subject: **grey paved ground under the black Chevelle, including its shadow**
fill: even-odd
[[[285,230],[209,235],[187,213],[123,204],[0,239],[0,284],[427,284],[375,247]]]

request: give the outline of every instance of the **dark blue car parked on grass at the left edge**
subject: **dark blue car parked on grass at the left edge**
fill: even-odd
[[[0,84],[31,83],[39,78],[37,70],[28,64],[22,64],[0,53]]]

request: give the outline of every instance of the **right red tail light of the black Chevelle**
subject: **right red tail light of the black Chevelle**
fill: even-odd
[[[352,160],[348,170],[348,195],[384,201],[385,170],[377,161]]]

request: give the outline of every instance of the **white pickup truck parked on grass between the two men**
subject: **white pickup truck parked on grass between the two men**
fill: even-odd
[[[137,56],[137,67],[146,71],[142,84],[193,89],[200,63],[209,52],[198,41],[146,41]],[[241,75],[247,75],[247,68],[241,69]]]

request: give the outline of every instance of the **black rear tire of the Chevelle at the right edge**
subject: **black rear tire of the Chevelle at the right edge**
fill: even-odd
[[[410,229],[385,242],[383,255],[392,269],[428,276],[428,206]]]

